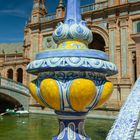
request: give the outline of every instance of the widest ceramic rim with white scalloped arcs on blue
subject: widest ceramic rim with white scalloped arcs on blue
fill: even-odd
[[[92,71],[111,76],[117,73],[116,65],[94,58],[53,57],[35,60],[27,66],[27,72],[38,75],[51,71]]]

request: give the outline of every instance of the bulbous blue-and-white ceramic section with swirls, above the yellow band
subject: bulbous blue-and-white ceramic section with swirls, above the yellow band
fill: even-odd
[[[58,44],[67,40],[79,40],[89,44],[92,42],[93,37],[92,32],[81,22],[79,24],[59,24],[53,33],[53,39]]]

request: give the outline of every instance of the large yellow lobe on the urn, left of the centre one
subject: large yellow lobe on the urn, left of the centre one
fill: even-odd
[[[60,110],[60,93],[56,80],[43,80],[40,85],[40,91],[42,97],[51,108]]]

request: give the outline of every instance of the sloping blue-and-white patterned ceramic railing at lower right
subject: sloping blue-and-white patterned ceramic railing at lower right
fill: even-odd
[[[120,110],[106,140],[133,140],[140,120],[140,77]],[[138,140],[140,139],[140,135]]]

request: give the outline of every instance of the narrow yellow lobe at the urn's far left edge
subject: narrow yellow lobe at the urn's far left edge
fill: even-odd
[[[31,82],[31,83],[29,84],[29,90],[30,90],[30,93],[31,93],[31,95],[33,96],[33,98],[34,98],[40,105],[45,106],[44,103],[43,103],[43,102],[40,100],[40,98],[38,97],[37,91],[36,91],[36,85],[35,85],[33,82]]]

